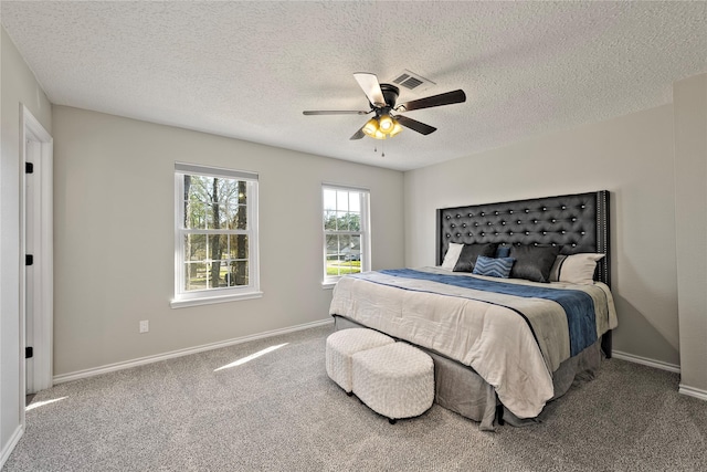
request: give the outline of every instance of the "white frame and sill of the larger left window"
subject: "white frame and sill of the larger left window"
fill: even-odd
[[[246,182],[245,230],[187,229],[184,221],[184,176],[218,177]],[[260,291],[258,265],[258,179],[257,174],[212,166],[175,162],[175,291],[170,302],[172,308],[224,303],[263,296]],[[186,291],[184,287],[184,237],[187,234],[246,234],[249,284],[229,287],[212,287]],[[207,259],[207,261],[209,261]]]

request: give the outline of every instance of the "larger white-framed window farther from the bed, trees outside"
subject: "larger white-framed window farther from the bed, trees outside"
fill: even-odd
[[[172,307],[261,296],[257,174],[175,165]]]

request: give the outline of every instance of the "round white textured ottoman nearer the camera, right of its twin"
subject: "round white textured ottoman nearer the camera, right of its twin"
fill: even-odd
[[[354,394],[391,423],[420,416],[432,407],[434,364],[422,350],[395,343],[352,357]]]

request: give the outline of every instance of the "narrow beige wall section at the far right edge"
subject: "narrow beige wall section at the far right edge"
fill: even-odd
[[[707,74],[673,97],[680,391],[707,399]]]

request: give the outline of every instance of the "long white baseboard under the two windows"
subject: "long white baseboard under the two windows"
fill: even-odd
[[[63,384],[66,381],[78,380],[82,378],[93,377],[102,374],[113,373],[116,370],[129,369],[130,367],[143,366],[146,364],[158,363],[160,360],[172,359],[175,357],[188,356],[190,354],[203,353],[204,350],[219,349],[221,347],[233,346],[236,344],[247,343],[249,340],[263,339],[266,337],[278,336],[282,334],[294,333],[302,329],[308,329],[316,326],[325,326],[334,323],[333,319],[323,319],[319,322],[306,323],[304,325],[292,326],[283,329],[273,329],[265,333],[260,333],[250,336],[238,337],[234,339],[226,339],[218,343],[204,344],[201,346],[189,347],[187,349],[172,350],[170,353],[157,354],[154,356],[139,357],[133,360],[125,360],[123,363],[108,364],[101,367],[94,367],[85,370],[77,370],[68,374],[61,374],[54,376],[54,384]]]

